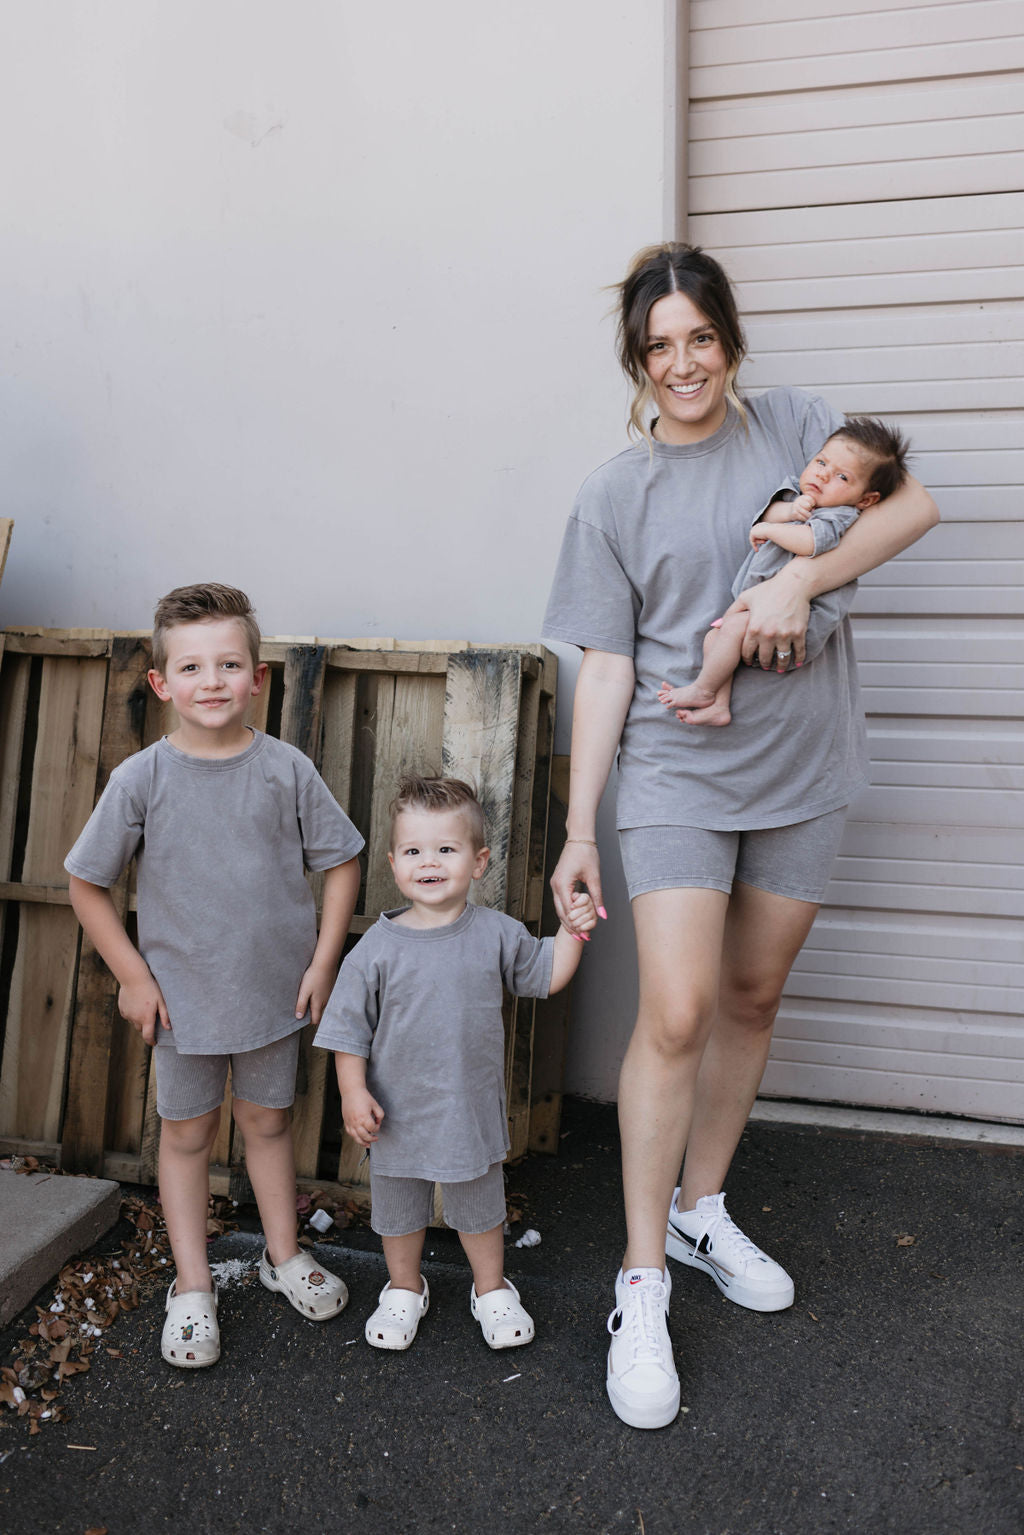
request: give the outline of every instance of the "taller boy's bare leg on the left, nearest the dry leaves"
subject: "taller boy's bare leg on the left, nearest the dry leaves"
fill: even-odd
[[[221,1124],[220,1108],[198,1119],[164,1119],[160,1128],[160,1203],[178,1271],[178,1294],[212,1289],[206,1256],[210,1199],[210,1151]]]

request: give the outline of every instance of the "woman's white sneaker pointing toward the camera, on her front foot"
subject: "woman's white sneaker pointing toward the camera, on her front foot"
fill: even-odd
[[[668,1335],[668,1274],[628,1269],[608,1317],[608,1400],[634,1429],[663,1429],[679,1412],[679,1375]]]

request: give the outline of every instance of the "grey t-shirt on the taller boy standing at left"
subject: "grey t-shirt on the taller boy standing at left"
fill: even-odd
[[[304,869],[362,847],[309,757],[261,731],[236,757],[166,738],[111,774],[64,867],[112,886],[135,857],[138,947],[167,1002],[157,1044],[229,1055],[284,1039],[316,947]]]

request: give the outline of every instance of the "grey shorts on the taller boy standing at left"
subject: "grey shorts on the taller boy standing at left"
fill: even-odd
[[[295,1102],[299,1035],[296,1030],[258,1050],[236,1050],[224,1056],[186,1056],[178,1055],[173,1044],[160,1044],[154,1059],[157,1113],[161,1119],[198,1119],[220,1108],[229,1065],[232,1098],[244,1098],[261,1108],[290,1108]]]

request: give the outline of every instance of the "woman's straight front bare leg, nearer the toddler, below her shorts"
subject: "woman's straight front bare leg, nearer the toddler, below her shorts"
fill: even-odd
[[[715,1019],[729,896],[652,890],[636,896],[640,1007],[619,1079],[625,1268],[665,1268],[665,1223]],[[738,1137],[738,1133],[737,1133]]]

